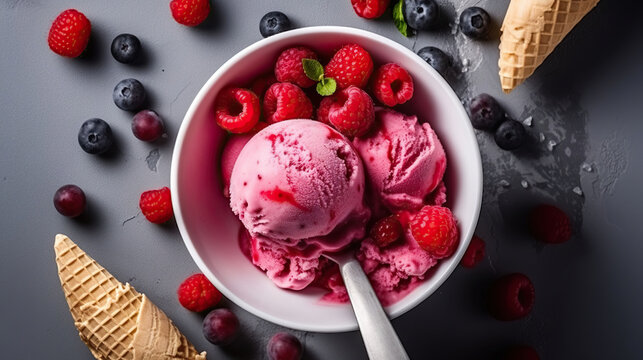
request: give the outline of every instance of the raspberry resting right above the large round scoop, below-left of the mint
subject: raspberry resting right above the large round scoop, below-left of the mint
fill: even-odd
[[[289,119],[310,119],[313,104],[299,86],[275,83],[266,91],[263,112],[269,124]]]

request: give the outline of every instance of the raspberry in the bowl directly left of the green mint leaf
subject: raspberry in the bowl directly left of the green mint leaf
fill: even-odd
[[[317,60],[317,54],[307,47],[294,47],[284,50],[275,64],[275,77],[279,82],[293,83],[301,88],[315,85],[304,73],[303,59]]]

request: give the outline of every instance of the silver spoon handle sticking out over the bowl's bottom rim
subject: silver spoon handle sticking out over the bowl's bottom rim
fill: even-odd
[[[340,269],[368,357],[371,360],[409,359],[359,262],[353,258]]]

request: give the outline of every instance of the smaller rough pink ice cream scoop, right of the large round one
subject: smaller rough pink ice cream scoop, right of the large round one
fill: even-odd
[[[431,126],[415,116],[379,108],[375,123],[374,131],[353,141],[373,197],[390,211],[417,210],[442,180],[444,148]]]

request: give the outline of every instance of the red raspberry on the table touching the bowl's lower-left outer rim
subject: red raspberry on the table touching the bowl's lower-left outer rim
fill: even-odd
[[[183,280],[176,293],[181,305],[195,312],[214,307],[223,297],[203,274],[194,274]]]

